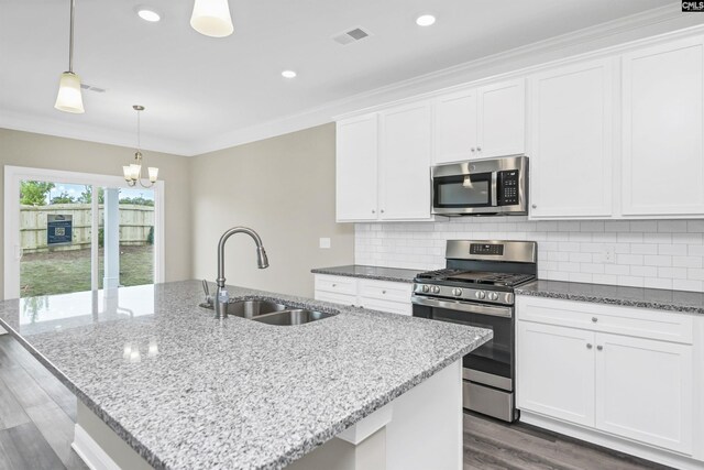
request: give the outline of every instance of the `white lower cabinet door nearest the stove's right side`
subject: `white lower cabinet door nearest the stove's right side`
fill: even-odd
[[[594,426],[594,334],[518,321],[520,409]]]

